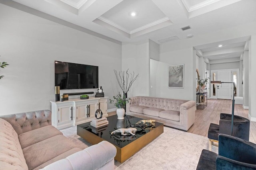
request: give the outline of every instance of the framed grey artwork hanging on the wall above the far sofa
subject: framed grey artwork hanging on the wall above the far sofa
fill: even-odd
[[[184,88],[184,64],[168,65],[168,88]]]

